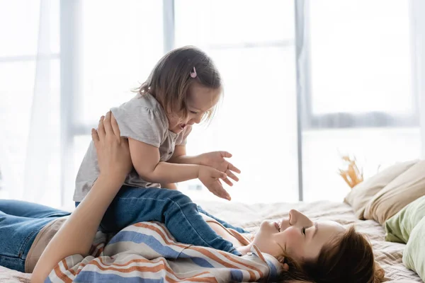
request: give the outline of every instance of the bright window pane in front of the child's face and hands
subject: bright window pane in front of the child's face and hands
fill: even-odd
[[[193,131],[188,152],[233,154],[243,173],[228,188],[233,200],[298,197],[294,11],[293,1],[175,1],[176,47],[203,48],[225,83],[216,117]],[[190,190],[199,186],[180,184],[193,198],[210,197]]]

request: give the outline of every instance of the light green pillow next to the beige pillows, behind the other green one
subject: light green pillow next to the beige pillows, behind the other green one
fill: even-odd
[[[425,195],[385,221],[385,241],[407,243],[414,226],[425,216]]]

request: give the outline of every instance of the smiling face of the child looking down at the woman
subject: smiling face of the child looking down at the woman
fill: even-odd
[[[169,130],[179,134],[187,125],[198,124],[205,112],[208,112],[218,103],[220,93],[221,88],[206,88],[199,83],[192,83],[189,88],[187,102],[188,117],[185,120],[181,120],[177,115],[167,115]]]

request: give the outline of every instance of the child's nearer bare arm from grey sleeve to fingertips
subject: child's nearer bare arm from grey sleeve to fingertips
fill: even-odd
[[[174,164],[159,161],[159,149],[142,141],[128,139],[130,156],[137,174],[143,180],[152,183],[179,183],[199,178],[217,197],[230,200],[229,194],[222,187],[219,179],[225,180],[227,175],[210,166],[197,164]]]

